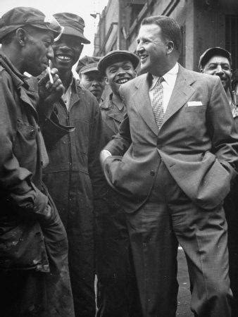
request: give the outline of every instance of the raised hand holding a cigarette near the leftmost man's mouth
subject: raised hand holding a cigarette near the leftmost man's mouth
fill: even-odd
[[[39,98],[41,99],[41,104],[52,105],[54,102],[61,98],[64,87],[61,82],[60,77],[58,77],[58,70],[56,68],[51,69],[51,75],[53,78],[53,84],[49,80],[49,73],[46,70],[41,75],[41,79],[38,82],[39,87]]]

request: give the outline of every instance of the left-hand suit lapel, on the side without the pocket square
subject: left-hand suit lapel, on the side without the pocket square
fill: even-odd
[[[151,75],[146,75],[144,78],[135,85],[135,92],[132,95],[132,100],[137,108],[140,116],[144,119],[151,130],[158,135],[158,127],[154,118],[154,113],[151,108],[151,100],[149,99],[149,87],[151,85]]]

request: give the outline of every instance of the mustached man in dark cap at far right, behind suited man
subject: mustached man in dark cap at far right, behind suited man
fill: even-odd
[[[231,79],[232,79],[232,58],[229,51],[221,47],[211,47],[201,54],[199,59],[199,68],[202,73],[217,75],[223,84],[227,98],[230,103],[230,108],[234,118],[234,123],[238,132],[238,108],[234,99],[235,93],[232,92]],[[227,218],[228,225],[228,250],[230,261],[230,283],[234,296],[232,301],[232,316],[238,315],[238,278],[237,278],[237,254],[238,254],[238,178],[236,177],[232,182],[230,193],[224,200],[224,210]]]

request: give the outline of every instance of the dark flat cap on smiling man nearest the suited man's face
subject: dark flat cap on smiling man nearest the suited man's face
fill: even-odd
[[[98,70],[102,75],[105,75],[106,68],[113,63],[119,61],[131,61],[134,68],[137,68],[139,64],[139,57],[130,51],[115,50],[109,51],[98,63]]]

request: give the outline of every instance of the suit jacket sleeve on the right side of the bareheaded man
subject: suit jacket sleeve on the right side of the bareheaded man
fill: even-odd
[[[217,77],[211,92],[208,105],[208,130],[211,132],[213,154],[218,161],[232,174],[236,175],[238,135],[234,126],[232,111],[230,111],[229,101]]]

